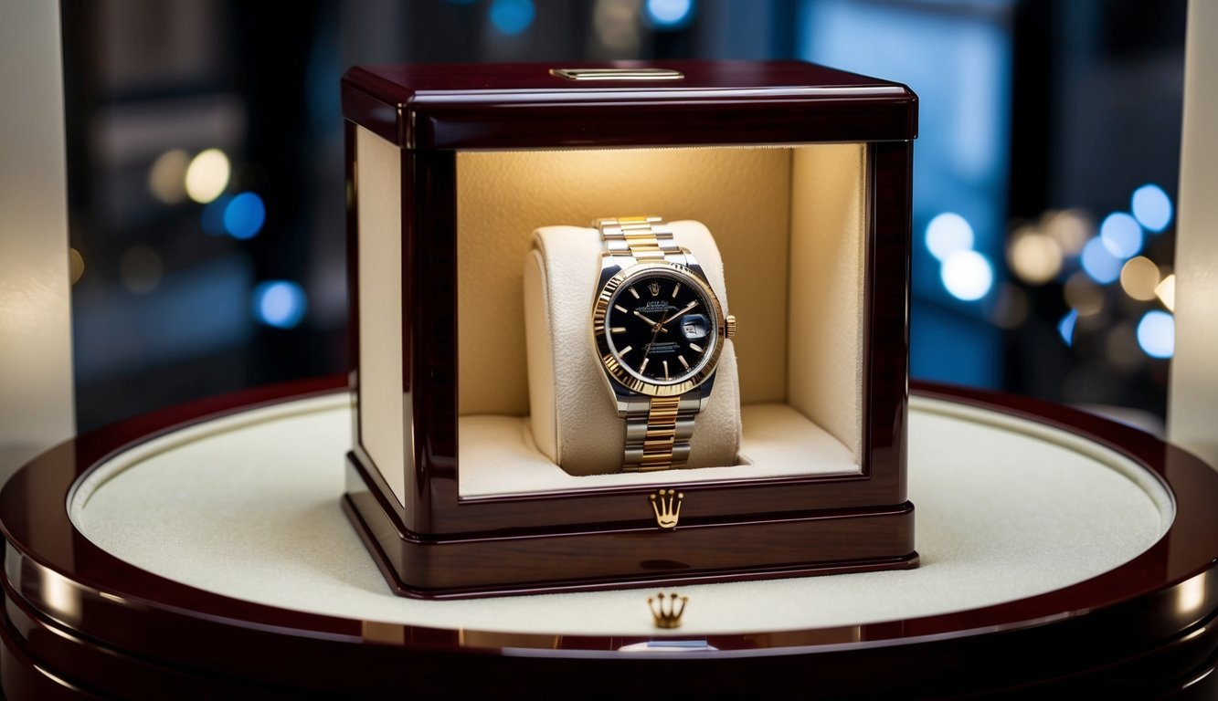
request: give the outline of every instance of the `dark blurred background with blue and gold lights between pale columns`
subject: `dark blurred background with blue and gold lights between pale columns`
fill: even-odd
[[[914,377],[1161,427],[1185,0],[63,0],[62,18],[80,431],[347,369],[347,67],[635,57],[910,85]]]

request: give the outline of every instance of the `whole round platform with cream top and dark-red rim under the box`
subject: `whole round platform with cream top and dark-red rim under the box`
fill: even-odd
[[[1213,692],[1218,475],[1028,399],[923,387],[909,426],[918,568],[685,587],[681,628],[661,630],[646,588],[395,596],[340,507],[351,415],[331,381],[143,417],[0,494],[0,683],[11,699]]]

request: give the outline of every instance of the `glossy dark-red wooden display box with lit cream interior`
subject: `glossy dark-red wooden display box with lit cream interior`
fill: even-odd
[[[608,67],[630,72],[555,71]],[[907,88],[800,62],[357,67],[342,111],[343,507],[395,591],[916,566]],[[527,436],[530,235],[626,214],[716,237],[741,329],[741,465],[576,477]],[[596,360],[591,333],[561,352]],[[653,507],[669,489],[676,528]]]

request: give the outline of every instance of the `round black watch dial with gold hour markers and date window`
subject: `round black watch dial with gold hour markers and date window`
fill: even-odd
[[[714,349],[715,310],[692,280],[647,274],[618,288],[605,313],[609,349],[635,376],[657,385],[688,380]]]

